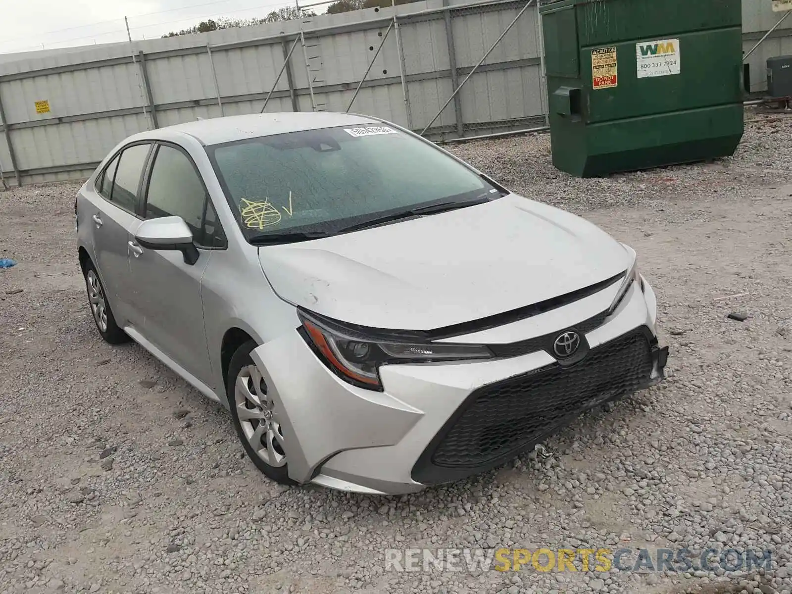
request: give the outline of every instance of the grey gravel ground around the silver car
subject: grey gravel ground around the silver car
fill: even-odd
[[[761,119],[761,118],[760,118]],[[409,497],[267,482],[230,417],[90,318],[78,185],[0,192],[0,592],[792,591],[792,120],[722,161],[578,180],[546,135],[453,150],[638,250],[668,380]],[[733,296],[741,295],[741,296]],[[744,311],[744,322],[729,320]],[[387,548],[771,550],[751,572],[385,569]]]

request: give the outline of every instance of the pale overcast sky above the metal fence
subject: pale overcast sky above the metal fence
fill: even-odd
[[[309,3],[312,0],[304,0]],[[207,18],[264,17],[293,0],[0,0],[0,53],[151,39]]]

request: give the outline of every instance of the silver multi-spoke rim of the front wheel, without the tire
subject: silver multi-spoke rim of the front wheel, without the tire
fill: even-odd
[[[239,370],[234,390],[239,425],[259,458],[269,466],[286,464],[284,433],[275,409],[267,395],[267,384],[255,365]]]

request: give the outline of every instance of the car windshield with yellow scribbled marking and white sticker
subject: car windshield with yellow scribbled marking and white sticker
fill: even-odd
[[[251,242],[322,237],[415,208],[461,208],[501,195],[443,151],[390,126],[290,132],[207,152]]]

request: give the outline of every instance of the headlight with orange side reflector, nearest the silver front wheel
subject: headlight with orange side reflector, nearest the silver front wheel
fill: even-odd
[[[327,367],[348,383],[370,390],[383,389],[379,382],[380,365],[489,359],[493,356],[483,345],[389,341],[319,320],[302,310],[298,315],[303,322],[303,338]]]

